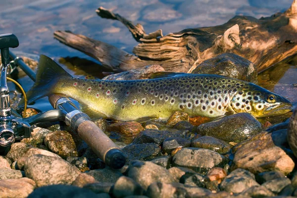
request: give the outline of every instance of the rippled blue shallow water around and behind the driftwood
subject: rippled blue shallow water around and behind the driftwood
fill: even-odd
[[[0,34],[14,33],[20,42],[15,51],[45,54],[63,64],[72,75],[103,77],[99,62],[53,39],[56,30],[70,30],[132,53],[137,42],[120,22],[100,18],[99,6],[112,9],[127,19],[141,23],[146,32],[163,30],[163,35],[185,28],[220,25],[235,15],[256,18],[285,11],[293,0],[1,0]],[[77,56],[77,57],[76,57]],[[60,59],[60,57],[63,57]],[[85,61],[86,58],[90,61]],[[88,66],[85,67],[85,65]],[[259,76],[260,85],[297,103],[296,61],[283,62]],[[33,82],[19,79],[27,91]],[[9,83],[11,90],[14,86]],[[51,109],[47,99],[34,105]]]

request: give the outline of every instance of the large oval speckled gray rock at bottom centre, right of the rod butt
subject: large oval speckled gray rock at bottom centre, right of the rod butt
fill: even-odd
[[[173,156],[172,162],[173,166],[187,167],[205,175],[212,167],[223,167],[228,159],[204,148],[182,148]]]

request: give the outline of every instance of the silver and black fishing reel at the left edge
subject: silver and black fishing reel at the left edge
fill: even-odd
[[[12,114],[9,103],[9,89],[6,83],[7,68],[10,67],[9,48],[18,47],[13,34],[0,35],[1,78],[0,78],[0,147],[9,147],[16,139],[30,138],[31,126],[21,117]]]

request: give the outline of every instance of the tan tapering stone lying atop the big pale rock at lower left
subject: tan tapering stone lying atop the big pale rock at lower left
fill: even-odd
[[[59,155],[50,152],[48,150],[35,148],[29,144],[26,143],[14,143],[11,145],[11,148],[9,152],[6,154],[6,157],[9,158],[12,161],[18,160],[20,157],[30,157],[35,154],[42,154],[42,155],[48,155],[48,156],[54,156],[59,157]]]

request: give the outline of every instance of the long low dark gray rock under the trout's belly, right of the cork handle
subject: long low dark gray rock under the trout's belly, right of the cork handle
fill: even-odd
[[[133,144],[145,144],[145,143],[155,143],[161,145],[166,138],[171,137],[190,137],[188,133],[183,133],[180,131],[169,132],[169,131],[159,131],[154,129],[147,129],[142,131],[133,141]]]

